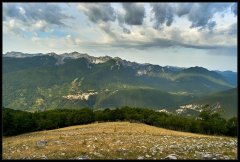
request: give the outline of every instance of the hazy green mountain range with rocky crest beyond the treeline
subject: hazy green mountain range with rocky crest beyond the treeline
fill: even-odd
[[[26,111],[121,106],[176,110],[237,87],[236,72],[197,66],[139,64],[78,52],[8,52],[2,59],[3,106]],[[228,116],[236,115],[237,93],[226,101],[221,97],[214,101],[221,101],[225,112],[231,113]]]

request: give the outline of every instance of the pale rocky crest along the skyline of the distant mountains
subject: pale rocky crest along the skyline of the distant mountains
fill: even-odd
[[[124,67],[126,66],[131,66],[133,69],[136,68],[143,68],[142,70],[148,70],[149,68],[151,69],[159,69],[161,71],[172,71],[172,72],[186,72],[186,73],[205,73],[205,74],[209,74],[209,73],[218,73],[218,74],[222,74],[222,72],[224,72],[226,75],[227,73],[233,73],[233,75],[235,75],[234,72],[232,71],[210,71],[206,68],[200,67],[200,66],[194,66],[194,67],[190,67],[190,68],[185,68],[185,67],[177,67],[177,66],[160,66],[160,65],[154,65],[154,64],[150,64],[150,63],[136,63],[136,62],[131,62],[131,61],[127,61],[124,60],[120,57],[111,57],[108,55],[105,56],[90,56],[87,53],[80,53],[78,51],[73,51],[73,52],[69,52],[69,53],[63,53],[63,54],[56,54],[55,52],[49,52],[46,54],[42,54],[42,53],[35,53],[35,54],[28,54],[28,53],[23,53],[23,52],[17,52],[17,51],[11,51],[11,52],[7,52],[6,54],[3,54],[3,57],[13,57],[13,58],[25,58],[25,57],[34,57],[34,56],[43,56],[43,55],[47,55],[47,56],[52,56],[55,59],[57,59],[56,65],[61,65],[65,63],[65,60],[68,58],[70,59],[78,59],[78,58],[85,58],[86,60],[88,60],[90,63],[93,64],[99,64],[99,63],[105,63],[106,61],[109,60],[114,60],[116,61],[116,64],[118,66],[122,65]],[[151,71],[151,70],[150,70]],[[214,74],[216,76],[216,74]]]

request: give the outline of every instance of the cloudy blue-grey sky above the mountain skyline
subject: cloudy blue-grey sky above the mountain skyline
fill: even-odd
[[[3,53],[237,72],[237,3],[3,3]]]

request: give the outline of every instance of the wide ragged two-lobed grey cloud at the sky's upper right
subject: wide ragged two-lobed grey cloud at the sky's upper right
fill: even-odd
[[[174,16],[187,16],[191,22],[191,28],[208,28],[212,30],[216,22],[212,20],[217,12],[222,12],[231,6],[231,3],[152,3],[152,12],[154,13],[154,28],[161,29],[164,24],[171,26]],[[236,7],[232,10],[236,13]]]

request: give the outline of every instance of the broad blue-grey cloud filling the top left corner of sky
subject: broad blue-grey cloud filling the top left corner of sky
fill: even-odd
[[[57,4],[49,3],[5,3],[3,4],[3,19],[15,18],[23,22],[45,20],[49,24],[66,26],[63,19],[72,18],[62,12]]]

